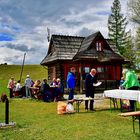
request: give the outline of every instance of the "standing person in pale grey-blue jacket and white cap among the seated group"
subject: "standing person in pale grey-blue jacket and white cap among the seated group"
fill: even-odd
[[[30,79],[30,75],[27,75],[25,79],[26,97],[31,96],[31,93],[30,93],[31,85],[32,85],[32,80]]]

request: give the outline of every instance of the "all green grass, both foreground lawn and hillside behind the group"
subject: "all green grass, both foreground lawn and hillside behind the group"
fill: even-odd
[[[20,66],[0,66],[0,93],[7,91],[11,76],[19,79]],[[46,69],[39,65],[25,66],[33,80],[47,77]],[[0,128],[0,140],[139,140],[138,121],[133,133],[132,118],[121,117],[119,110],[110,111],[109,100],[95,102],[96,111],[58,115],[57,102],[13,98],[9,100],[9,119],[15,127]],[[74,104],[75,107],[75,104]],[[5,122],[5,104],[0,102],[0,122]]]

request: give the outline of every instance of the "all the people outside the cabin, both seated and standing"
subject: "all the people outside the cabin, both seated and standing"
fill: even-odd
[[[76,86],[75,81],[75,67],[71,67],[70,71],[68,72],[67,79],[66,79],[66,86],[68,89],[68,100],[74,99],[74,89]],[[124,69],[123,77],[120,80],[120,88],[121,89],[127,89],[127,90],[138,90],[140,88],[140,83],[138,81],[137,75],[132,70]],[[85,78],[85,97],[91,97],[94,98],[95,93],[95,87],[93,84],[97,83],[97,71],[95,68],[92,68],[91,71],[86,75]],[[49,101],[52,99],[52,91],[50,88],[53,89],[53,99],[54,101],[57,101],[59,93],[64,93],[64,86],[59,78],[53,78],[52,82],[50,84],[47,83],[47,79],[43,79],[41,82],[40,80],[36,80],[35,83],[30,79],[30,76],[27,75],[25,79],[25,96],[31,97],[34,96],[35,98],[38,98],[39,95],[43,95],[44,101]],[[21,95],[21,83],[20,80],[17,81],[17,83],[14,81],[14,78],[11,77],[11,79],[8,82],[8,86],[10,91],[10,98],[13,97],[13,93],[18,93]],[[24,96],[24,95],[23,95]],[[130,108],[131,110],[134,110],[134,104],[135,101],[130,100]],[[94,111],[94,100],[90,100],[90,104],[88,101],[85,101],[85,110],[90,109],[91,111]]]

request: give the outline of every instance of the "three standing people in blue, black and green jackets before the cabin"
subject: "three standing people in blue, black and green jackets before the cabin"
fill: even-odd
[[[70,72],[67,75],[67,88],[68,88],[68,100],[72,100],[74,98],[74,88],[75,88],[75,68],[72,67]],[[127,89],[127,90],[138,90],[140,88],[140,83],[138,80],[138,76],[134,73],[133,70],[124,69],[122,71],[123,77],[120,80],[120,89]],[[94,84],[97,83],[97,71],[96,69],[92,68],[91,71],[86,75],[85,78],[85,97],[94,98],[95,87]],[[94,111],[94,100],[85,101],[85,110]],[[130,111],[135,109],[135,102],[134,100],[130,100]]]

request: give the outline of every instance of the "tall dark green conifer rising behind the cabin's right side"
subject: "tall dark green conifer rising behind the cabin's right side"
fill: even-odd
[[[127,33],[126,30],[126,17],[121,14],[121,4],[119,0],[114,0],[113,6],[111,7],[111,14],[108,18],[108,30],[109,30],[109,38],[116,45],[120,54],[124,54],[126,52],[126,44],[127,44]]]

